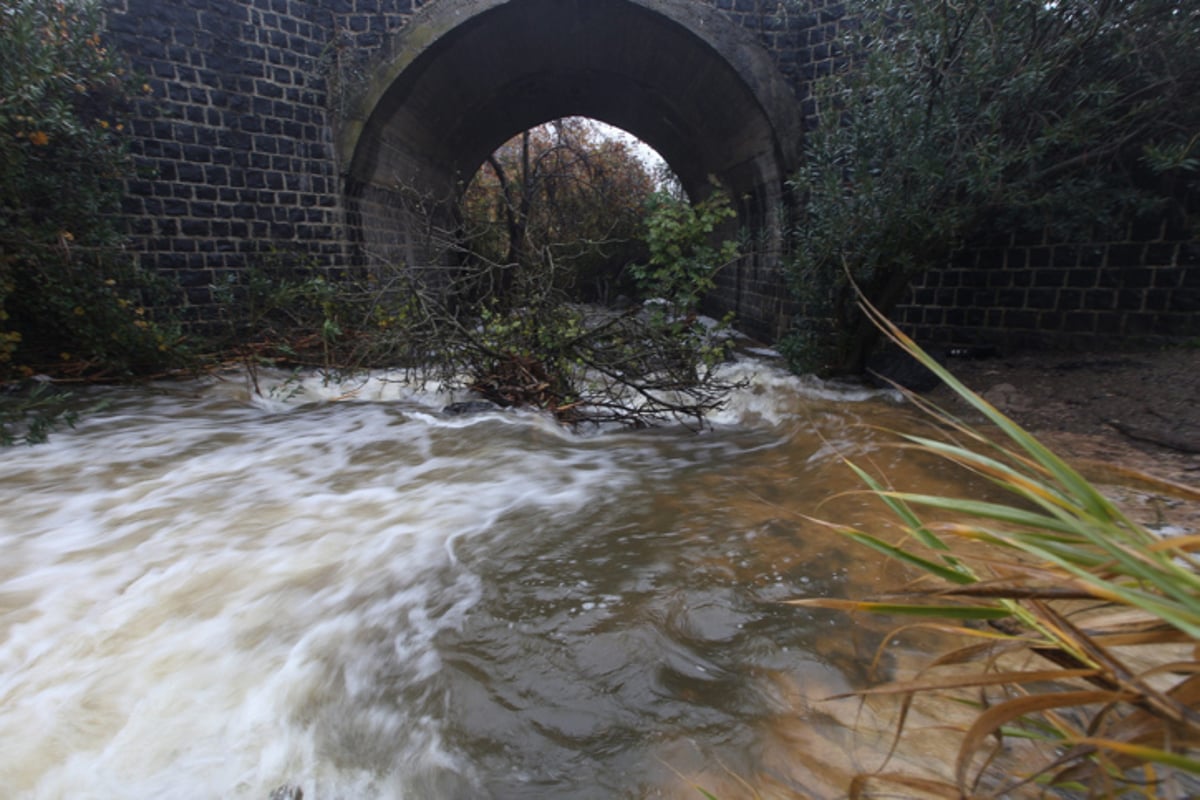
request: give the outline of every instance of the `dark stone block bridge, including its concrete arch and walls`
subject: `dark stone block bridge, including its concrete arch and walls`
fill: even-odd
[[[150,90],[130,121],[133,246],[178,278],[188,319],[211,315],[212,287],[247,266],[419,264],[431,216],[414,207],[436,219],[508,138],[583,115],[647,142],[694,196],[715,175],[739,198],[758,247],[722,273],[716,309],[767,338],[788,323],[780,212],[809,83],[833,66],[838,0],[106,2],[113,44]],[[1175,302],[1154,294],[1168,282],[1184,305],[1200,291],[1183,269],[1196,248],[1156,241],[1162,272],[1146,272],[1141,245],[1110,264],[1122,236],[1087,253],[1040,242],[1020,260],[1012,245],[1039,243],[1009,242],[920,282],[902,313],[958,338],[1148,329],[1154,303]],[[1141,271],[1103,277],[1110,266]],[[1118,300],[1129,288],[1144,291]],[[1176,330],[1196,325],[1176,311]]]

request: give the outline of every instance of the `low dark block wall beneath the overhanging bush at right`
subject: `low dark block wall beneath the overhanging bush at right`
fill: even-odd
[[[1094,241],[1008,237],[914,282],[895,318],[922,342],[1008,350],[1200,336],[1200,241],[1164,222]]]

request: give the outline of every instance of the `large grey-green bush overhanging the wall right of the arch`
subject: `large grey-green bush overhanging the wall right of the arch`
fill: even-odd
[[[912,277],[986,233],[1186,212],[1200,170],[1200,12],[1165,0],[846,4],[842,68],[794,178],[788,353],[859,372]]]

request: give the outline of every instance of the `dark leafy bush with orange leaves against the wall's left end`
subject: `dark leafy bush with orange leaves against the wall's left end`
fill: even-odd
[[[0,0],[0,378],[174,359],[148,312],[162,287],[121,249],[122,114],[148,91],[104,47],[97,4]]]

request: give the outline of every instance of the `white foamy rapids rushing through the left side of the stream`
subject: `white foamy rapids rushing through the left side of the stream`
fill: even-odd
[[[782,425],[805,392],[866,398],[736,369],[755,383],[719,428]],[[265,800],[284,783],[308,800],[487,796],[493,754],[448,740],[469,681],[448,684],[443,643],[488,614],[512,625],[487,609],[521,563],[497,565],[574,569],[576,539],[612,531],[628,547],[650,523],[626,515],[667,503],[674,476],[690,497],[722,458],[780,439],[448,417],[446,398],[378,378],[272,375],[263,395],[240,379],[122,391],[78,429],[0,455],[4,798]],[[664,541],[700,523],[671,524]],[[568,551],[521,551],[539,537]],[[637,596],[660,581],[628,578]],[[605,620],[629,596],[562,585],[582,597],[574,614]],[[529,591],[523,619],[553,604]]]

